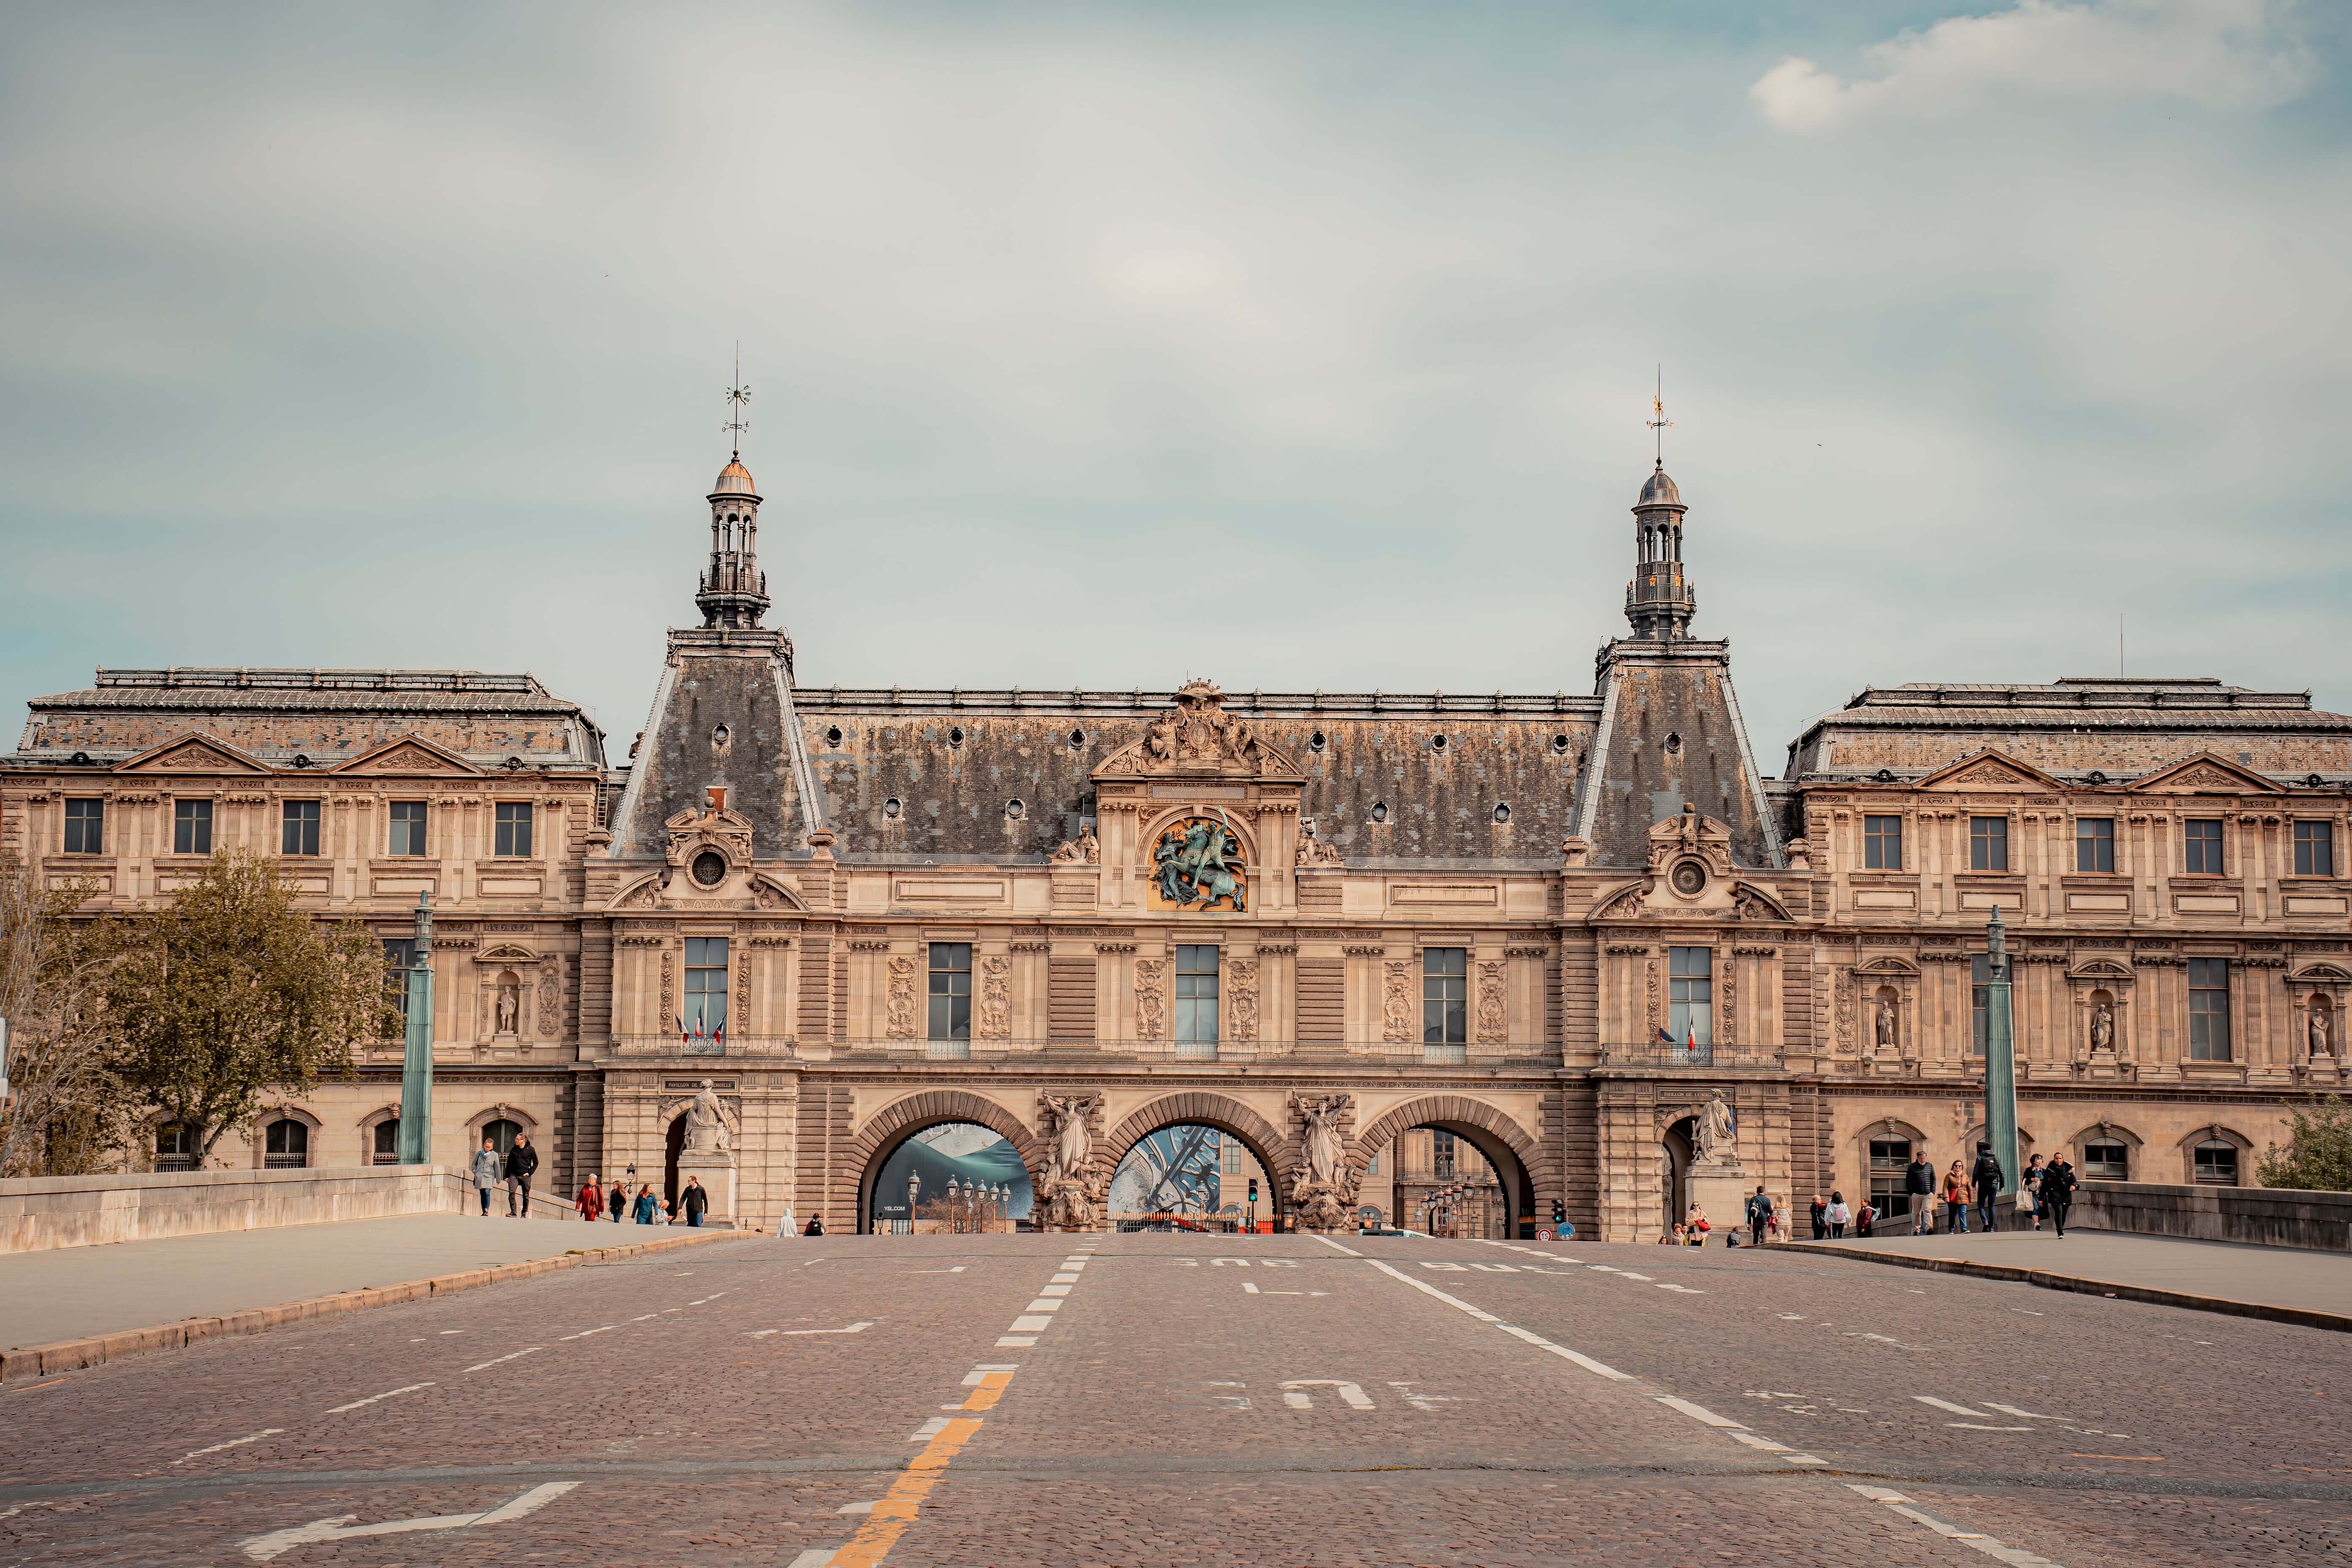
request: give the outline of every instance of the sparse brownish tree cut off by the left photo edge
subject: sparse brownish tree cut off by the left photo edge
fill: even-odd
[[[0,1175],[85,1175],[120,1161],[132,1103],[111,1070],[103,1006],[115,929],[73,922],[96,884],[42,886],[24,860],[0,863],[0,1018],[9,1023],[9,1095],[0,1105]]]

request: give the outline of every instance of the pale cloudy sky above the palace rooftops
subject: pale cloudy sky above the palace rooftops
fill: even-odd
[[[0,724],[426,665],[626,750],[739,339],[807,684],[1590,689],[1663,362],[1766,771],[2119,614],[2352,708],[2347,63],[2291,0],[12,5]]]

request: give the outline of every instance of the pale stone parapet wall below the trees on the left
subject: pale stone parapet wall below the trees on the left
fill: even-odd
[[[35,1175],[0,1180],[0,1253],[459,1213],[470,1201],[470,1182],[449,1166]],[[532,1206],[562,1211],[543,1199]]]

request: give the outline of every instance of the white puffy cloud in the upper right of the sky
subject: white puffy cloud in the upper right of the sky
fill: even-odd
[[[1867,113],[1947,115],[1999,99],[2267,108],[2314,75],[2284,0],[2018,0],[1863,54],[1867,78],[1849,82],[1790,56],[1748,94],[1771,125],[1816,132]]]

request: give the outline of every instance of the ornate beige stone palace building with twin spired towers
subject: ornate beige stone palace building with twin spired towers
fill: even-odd
[[[1976,1128],[1994,907],[2027,1150],[2251,1178],[2345,1081],[2352,719],[2307,696],[1870,689],[1764,778],[1663,470],[1590,696],[807,689],[741,463],[708,505],[703,625],[623,764],[529,677],[115,670],[31,703],[0,853],[153,907],[200,816],[386,940],[430,891],[435,1159],[506,1119],[546,1185],[659,1185],[710,1079],[762,1227],[856,1227],[943,1121],[1101,1222],[1190,1121],[1247,1145],[1261,1215],[1388,1211],[1439,1128],[1512,1225],[1646,1239],[1715,1095],[1745,1180],[1856,1197],[1872,1140],[1943,1166]],[[367,1164],[397,1067],[369,1046],[261,1121]]]

